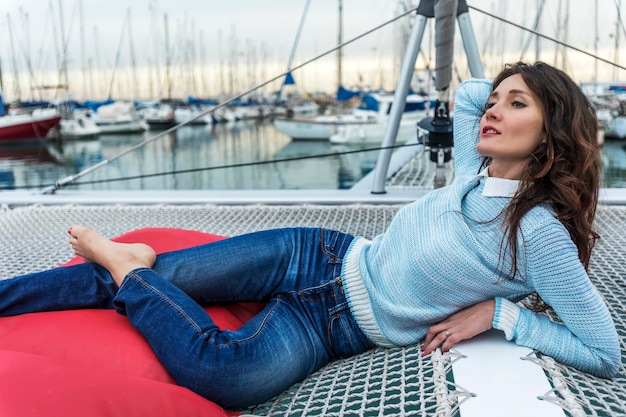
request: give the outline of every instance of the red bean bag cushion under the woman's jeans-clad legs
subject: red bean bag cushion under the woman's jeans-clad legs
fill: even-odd
[[[162,253],[222,238],[190,230],[148,228],[114,240],[144,242]],[[76,257],[64,265],[78,262],[82,260]],[[261,308],[260,304],[242,303],[207,306],[205,310],[220,327],[232,330]],[[5,395],[8,392],[12,394]],[[0,393],[0,415],[11,417],[229,415],[174,385],[143,336],[113,310],[0,318]]]

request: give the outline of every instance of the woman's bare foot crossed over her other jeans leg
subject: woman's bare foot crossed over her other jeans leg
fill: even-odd
[[[133,269],[151,268],[156,260],[154,249],[143,243],[113,242],[83,226],[72,226],[68,232],[76,255],[105,267],[117,285]]]

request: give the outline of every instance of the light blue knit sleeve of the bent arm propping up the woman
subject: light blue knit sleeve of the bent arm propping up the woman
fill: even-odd
[[[497,298],[493,327],[508,340],[581,371],[613,377],[621,366],[617,330],[565,228],[542,227],[527,250],[529,279],[563,323]]]

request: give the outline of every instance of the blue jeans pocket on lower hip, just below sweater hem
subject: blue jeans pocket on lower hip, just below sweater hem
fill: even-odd
[[[357,325],[347,302],[330,311],[328,343],[335,359],[348,358],[374,347]]]

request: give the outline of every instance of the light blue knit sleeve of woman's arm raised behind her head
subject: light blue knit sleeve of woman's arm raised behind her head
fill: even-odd
[[[454,96],[454,171],[456,175],[475,175],[481,156],[476,152],[480,118],[491,93],[491,81],[463,81]]]

